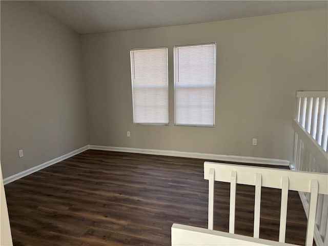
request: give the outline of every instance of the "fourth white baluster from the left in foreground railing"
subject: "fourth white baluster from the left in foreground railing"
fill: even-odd
[[[279,242],[285,242],[289,178],[282,177]]]

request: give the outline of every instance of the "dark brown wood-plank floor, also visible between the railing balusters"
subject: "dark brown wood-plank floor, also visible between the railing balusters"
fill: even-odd
[[[5,186],[14,245],[170,245],[173,223],[207,228],[199,159],[88,150]],[[235,233],[253,236],[254,187],[237,186]],[[214,229],[228,232],[228,183],[216,182]],[[277,240],[280,190],[262,189],[260,238]],[[306,217],[289,193],[286,242]]]

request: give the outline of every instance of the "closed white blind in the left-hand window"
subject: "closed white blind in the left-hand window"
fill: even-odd
[[[133,122],[168,124],[168,48],[131,50]]]

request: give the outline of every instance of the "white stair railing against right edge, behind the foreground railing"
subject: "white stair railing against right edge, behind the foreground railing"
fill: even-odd
[[[328,92],[298,91],[293,169],[296,171],[328,173]],[[310,193],[299,192],[304,211],[309,218]],[[328,245],[328,196],[318,195],[314,239],[316,244]]]

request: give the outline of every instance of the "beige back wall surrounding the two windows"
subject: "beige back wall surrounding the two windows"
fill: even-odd
[[[173,46],[212,42],[215,128],[175,127]],[[328,89],[326,10],[89,34],[82,44],[92,145],[292,160],[296,91]],[[169,48],[170,124],[133,125],[129,51],[162,46]]]

